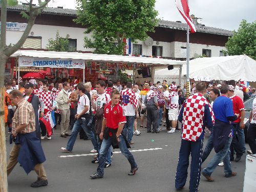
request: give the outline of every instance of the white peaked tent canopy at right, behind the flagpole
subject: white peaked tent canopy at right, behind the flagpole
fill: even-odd
[[[204,57],[189,61],[189,78],[256,81],[256,61],[246,55]],[[186,65],[182,66],[186,75]]]

